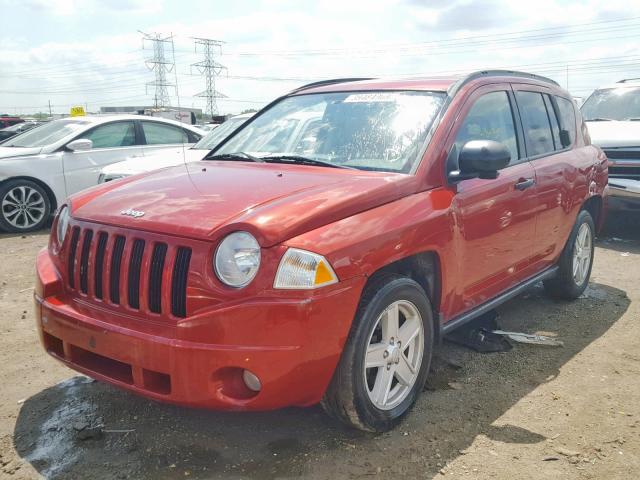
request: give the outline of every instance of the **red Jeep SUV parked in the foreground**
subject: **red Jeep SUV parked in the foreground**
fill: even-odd
[[[289,149],[301,112],[319,121]],[[607,183],[584,132],[525,73],[302,87],[202,162],[65,202],[37,258],[44,348],[165,402],[388,430],[447,332],[539,281],[584,291]]]

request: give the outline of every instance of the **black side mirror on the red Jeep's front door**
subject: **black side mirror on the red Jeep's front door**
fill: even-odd
[[[498,178],[498,170],[509,165],[511,152],[493,140],[472,140],[464,144],[458,156],[459,170],[451,172],[450,180]]]

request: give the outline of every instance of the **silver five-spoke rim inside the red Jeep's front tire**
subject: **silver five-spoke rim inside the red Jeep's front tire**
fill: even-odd
[[[364,380],[371,402],[381,410],[402,403],[415,384],[424,350],[424,326],[416,306],[406,300],[389,305],[369,335]]]

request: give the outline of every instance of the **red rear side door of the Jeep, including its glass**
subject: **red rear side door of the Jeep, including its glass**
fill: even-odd
[[[538,202],[532,262],[536,270],[543,270],[562,251],[573,226],[573,219],[568,218],[572,197],[576,188],[585,187],[574,183],[579,177],[572,149],[575,113],[573,102],[556,97],[546,87],[514,84],[513,89],[527,157],[536,173]]]

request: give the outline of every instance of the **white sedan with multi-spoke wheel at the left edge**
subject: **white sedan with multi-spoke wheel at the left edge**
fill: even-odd
[[[114,115],[54,120],[9,139],[0,144],[0,230],[38,230],[68,195],[95,185],[105,165],[202,135],[171,120]]]

